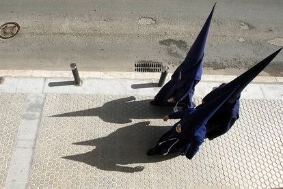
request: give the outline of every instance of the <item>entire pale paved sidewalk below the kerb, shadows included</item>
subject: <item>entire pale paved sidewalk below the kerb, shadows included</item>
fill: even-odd
[[[0,85],[0,188],[283,187],[282,83],[249,85],[232,129],[187,160],[146,156],[175,122],[149,104],[157,79],[71,80]],[[201,81],[196,104],[220,83]]]

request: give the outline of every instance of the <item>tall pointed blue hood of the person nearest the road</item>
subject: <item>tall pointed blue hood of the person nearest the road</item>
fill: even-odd
[[[216,3],[213,5],[211,14],[209,14],[204,26],[202,27],[202,30],[198,34],[198,38],[196,38],[195,42],[193,42],[189,53],[187,53],[185,60],[180,65],[181,78],[200,80],[202,76],[202,58],[204,57],[204,47],[206,44],[208,30],[211,25],[211,19],[213,17],[215,5]]]

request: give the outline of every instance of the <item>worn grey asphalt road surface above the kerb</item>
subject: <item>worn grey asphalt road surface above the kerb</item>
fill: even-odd
[[[183,61],[215,1],[1,1],[0,25],[21,31],[0,39],[1,70],[133,71],[137,62]],[[143,19],[145,18],[145,19]],[[204,73],[239,74],[283,46],[282,0],[219,0]],[[283,52],[263,75],[283,76]]]

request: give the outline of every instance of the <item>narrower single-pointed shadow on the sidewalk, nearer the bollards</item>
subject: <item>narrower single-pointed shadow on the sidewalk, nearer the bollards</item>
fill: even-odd
[[[97,108],[52,115],[51,117],[98,116],[105,122],[131,123],[131,119],[161,119],[172,113],[172,107],[154,106],[150,100],[136,101],[135,97],[111,100]]]

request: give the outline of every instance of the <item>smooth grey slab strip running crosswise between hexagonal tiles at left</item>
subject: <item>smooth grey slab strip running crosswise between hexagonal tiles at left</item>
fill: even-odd
[[[10,169],[5,186],[6,189],[18,186],[25,188],[29,177],[29,168],[33,159],[33,149],[36,143],[38,123],[43,107],[44,95],[29,93],[25,108],[21,113],[21,123],[18,127],[16,146],[14,147]]]

